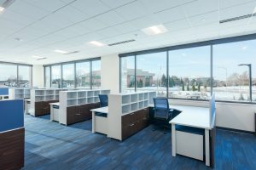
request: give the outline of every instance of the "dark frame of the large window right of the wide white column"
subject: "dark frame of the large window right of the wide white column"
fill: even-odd
[[[243,41],[249,41],[249,40],[256,40],[256,33],[248,34],[248,35],[242,35],[242,36],[236,36],[236,37],[225,37],[225,38],[219,38],[219,39],[212,39],[208,41],[203,42],[192,42],[192,43],[184,43],[181,45],[176,46],[168,46],[164,48],[153,48],[148,50],[142,50],[142,51],[135,51],[131,53],[125,53],[125,54],[119,54],[119,92],[122,92],[122,72],[121,72],[121,59],[126,56],[134,56],[135,57],[135,75],[137,71],[137,55],[139,54],[153,54],[153,53],[159,53],[159,52],[166,52],[166,70],[167,70],[167,77],[169,77],[169,51],[177,50],[177,49],[184,49],[184,48],[198,48],[202,46],[210,46],[210,78],[211,78],[211,95],[213,92],[212,83],[213,83],[213,46],[224,44],[224,43],[230,43],[230,42],[243,42]],[[169,84],[169,78],[167,78],[167,84]],[[135,92],[137,92],[137,86],[135,86]],[[169,87],[166,87],[166,97],[168,99],[181,99],[181,100],[190,100],[190,101],[207,101],[207,99],[182,99],[182,98],[169,98],[168,96],[168,89]],[[252,97],[252,94],[250,93],[250,97]],[[253,104],[256,105],[256,102],[248,101],[248,102],[241,102],[241,101],[232,101],[232,100],[217,100],[218,102],[222,103],[237,103],[237,104]]]

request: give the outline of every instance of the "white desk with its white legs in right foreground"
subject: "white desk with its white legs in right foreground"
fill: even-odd
[[[170,121],[172,124],[172,156],[176,156],[176,128],[175,125],[188,127],[198,127],[205,129],[205,156],[206,165],[210,166],[210,136],[209,130],[212,129],[210,124],[209,108],[172,105],[172,108],[182,111],[179,115]]]

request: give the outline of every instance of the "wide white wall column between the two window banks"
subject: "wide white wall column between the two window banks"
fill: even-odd
[[[119,93],[119,55],[102,57],[102,89],[110,89],[111,93]]]

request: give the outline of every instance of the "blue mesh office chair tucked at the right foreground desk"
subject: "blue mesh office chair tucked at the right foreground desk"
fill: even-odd
[[[154,98],[154,122],[161,122],[164,125],[164,132],[169,121],[172,119],[173,110],[169,108],[169,102],[166,98]]]

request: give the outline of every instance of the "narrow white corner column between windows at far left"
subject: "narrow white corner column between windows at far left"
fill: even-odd
[[[33,87],[44,88],[44,67],[43,65],[32,66]]]

